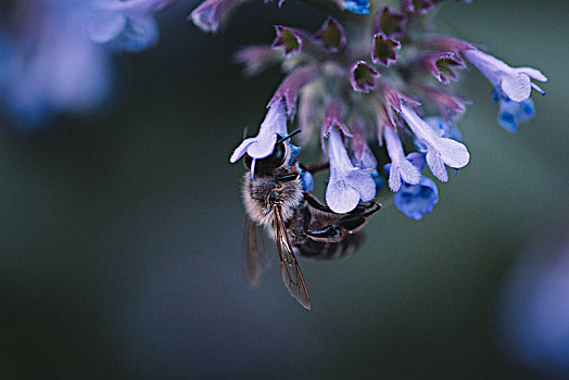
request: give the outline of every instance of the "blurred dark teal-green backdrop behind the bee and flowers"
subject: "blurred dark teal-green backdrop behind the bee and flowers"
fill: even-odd
[[[540,68],[547,96],[533,93],[535,119],[509,135],[471,71],[458,125],[470,164],[423,220],[385,207],[354,256],[301,258],[311,312],[278,265],[260,289],[244,277],[243,168],[228,157],[281,76],[246,80],[230,56],[271,41],[271,25],[325,17],[253,3],[211,36],[185,22],[193,7],[159,15],[154,49],[114,59],[112,105],[34,132],[2,119],[0,378],[565,376],[569,2],[441,7],[442,30]],[[532,302],[554,269],[557,297]]]

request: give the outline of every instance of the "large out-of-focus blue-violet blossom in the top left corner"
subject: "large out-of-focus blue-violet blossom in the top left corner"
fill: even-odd
[[[7,113],[34,128],[58,111],[99,106],[110,89],[109,55],[83,33],[85,4],[42,0],[14,7],[18,22],[0,35],[0,101]]]

